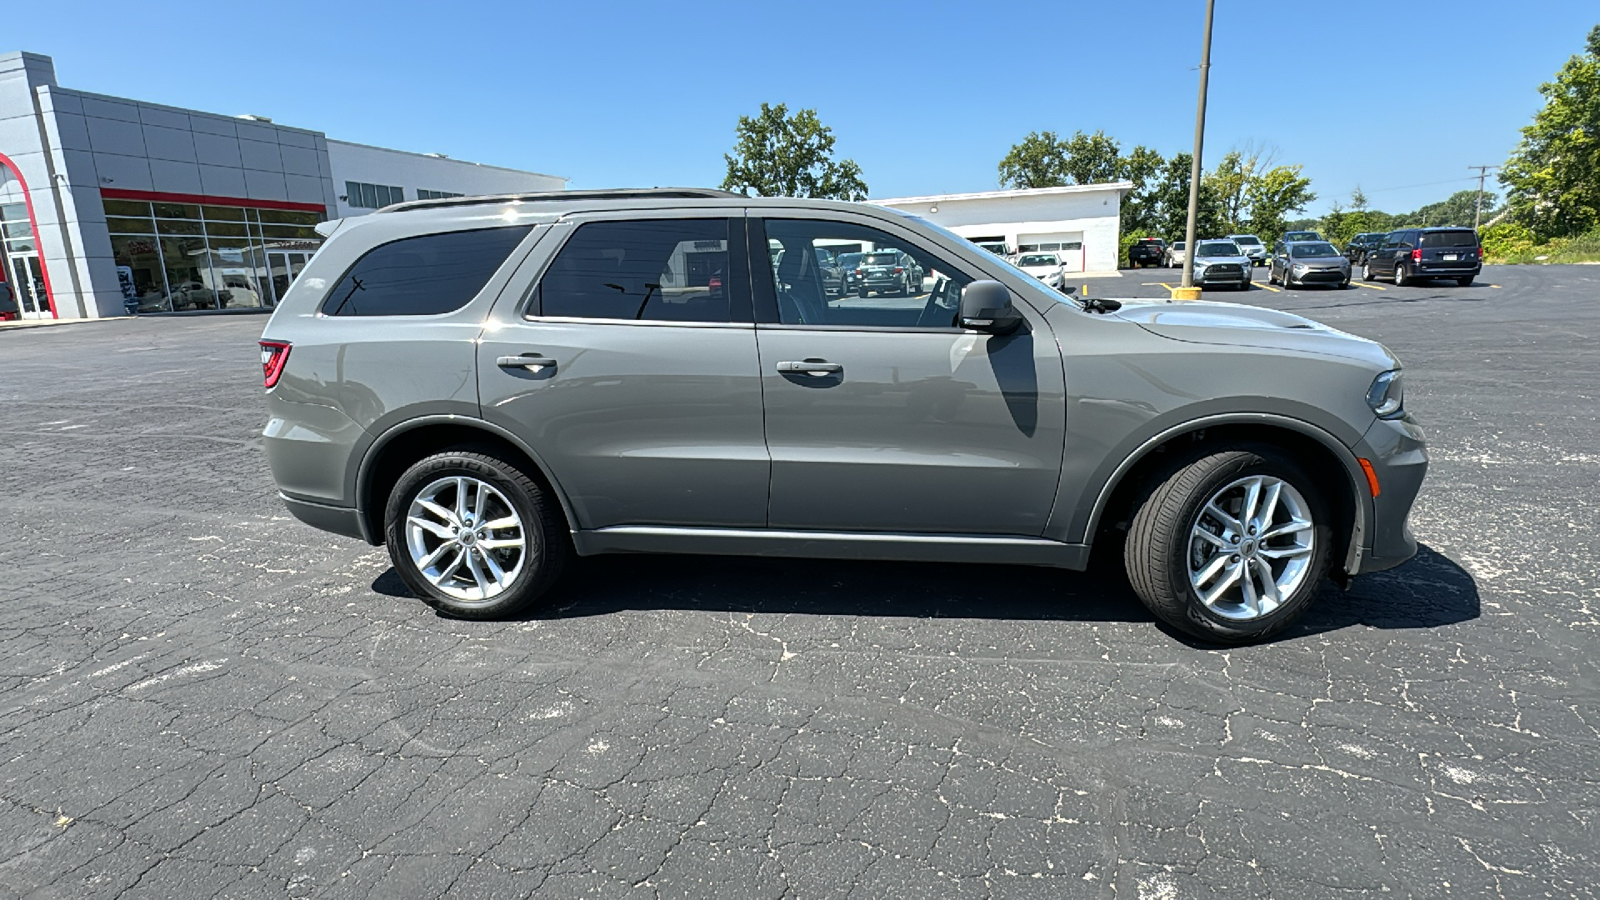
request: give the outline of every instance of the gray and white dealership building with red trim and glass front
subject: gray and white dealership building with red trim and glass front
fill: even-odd
[[[24,319],[272,307],[315,224],[402,200],[566,179],[62,88],[0,54],[0,280]]]

